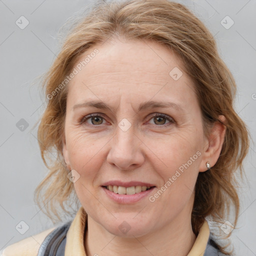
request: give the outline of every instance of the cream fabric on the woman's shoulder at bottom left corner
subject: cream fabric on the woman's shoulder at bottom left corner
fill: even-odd
[[[36,256],[44,238],[55,228],[46,229],[7,246],[0,251],[0,256]]]

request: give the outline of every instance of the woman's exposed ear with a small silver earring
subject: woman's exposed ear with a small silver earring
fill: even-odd
[[[225,122],[225,117],[219,115],[218,119],[221,122]],[[210,134],[205,138],[204,151],[202,153],[202,160],[199,166],[199,171],[206,171],[206,162],[210,163],[212,167],[220,155],[220,151],[224,142],[226,126],[219,121],[216,121],[210,130]]]

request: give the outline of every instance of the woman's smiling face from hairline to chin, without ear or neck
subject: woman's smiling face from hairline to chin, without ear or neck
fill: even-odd
[[[116,41],[91,47],[74,68],[63,155],[88,216],[119,236],[190,222],[206,139],[179,58],[155,42]],[[107,182],[137,193],[116,194],[103,187]],[[153,187],[139,192],[145,184]]]

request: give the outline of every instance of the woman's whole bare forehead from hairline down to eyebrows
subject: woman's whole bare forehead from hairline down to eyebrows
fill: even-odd
[[[95,49],[97,54],[91,54]],[[69,82],[68,96],[76,101],[82,101],[85,94],[96,99],[122,93],[145,100],[167,95],[185,99],[184,94],[187,97],[194,94],[192,80],[184,72],[180,58],[155,41],[116,40],[96,44],[78,59],[74,68],[80,70]]]

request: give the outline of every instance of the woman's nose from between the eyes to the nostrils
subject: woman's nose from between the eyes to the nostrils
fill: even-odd
[[[126,131],[117,127],[116,134],[110,143],[111,149],[107,155],[107,162],[115,165],[116,168],[131,170],[138,168],[144,162],[144,155],[141,151],[143,142],[134,134],[132,127]]]

